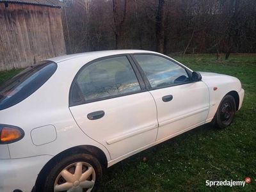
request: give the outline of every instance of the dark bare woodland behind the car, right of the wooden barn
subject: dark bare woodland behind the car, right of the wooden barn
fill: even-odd
[[[68,53],[256,52],[255,0],[62,0]]]

